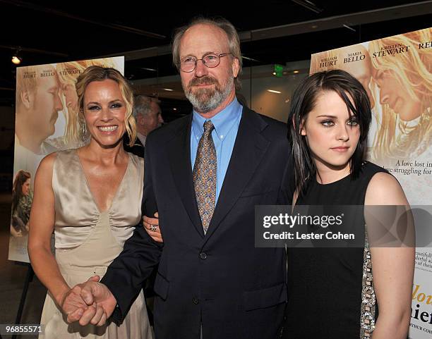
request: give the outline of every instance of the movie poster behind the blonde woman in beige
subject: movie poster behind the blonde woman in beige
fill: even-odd
[[[40,161],[52,152],[83,144],[75,83],[78,75],[93,65],[116,68],[124,74],[124,56],[16,68],[9,260],[30,262],[28,220]]]

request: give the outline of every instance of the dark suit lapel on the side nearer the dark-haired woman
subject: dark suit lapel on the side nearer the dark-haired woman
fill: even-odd
[[[263,159],[270,144],[260,134],[260,131],[265,126],[267,124],[257,113],[250,109],[243,109],[243,116],[241,117],[232,156],[229,160],[227,174],[205,238],[209,238],[215,232],[224,217],[232,209],[241,192],[251,180],[261,159]]]

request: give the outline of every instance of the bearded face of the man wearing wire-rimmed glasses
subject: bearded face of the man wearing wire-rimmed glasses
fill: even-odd
[[[180,42],[180,60],[186,56],[202,58],[205,54],[229,53],[228,38],[223,30],[213,25],[194,25],[184,33]],[[220,64],[208,68],[197,61],[192,72],[180,71],[181,85],[196,111],[208,113],[224,106],[234,92],[234,78],[239,73],[239,60],[230,54],[220,58]]]

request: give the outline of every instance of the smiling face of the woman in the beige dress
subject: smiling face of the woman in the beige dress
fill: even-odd
[[[90,82],[84,93],[84,117],[92,140],[102,147],[118,144],[126,131],[125,116],[126,103],[117,82]]]

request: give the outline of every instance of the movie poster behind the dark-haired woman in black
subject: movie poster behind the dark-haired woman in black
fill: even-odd
[[[432,205],[432,28],[311,56],[310,73],[342,69],[373,106],[368,160],[402,185],[409,204]],[[431,225],[432,227],[432,225]],[[409,338],[432,334],[432,248],[416,248]]]

